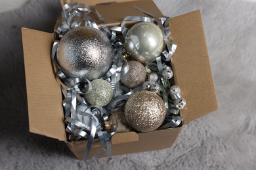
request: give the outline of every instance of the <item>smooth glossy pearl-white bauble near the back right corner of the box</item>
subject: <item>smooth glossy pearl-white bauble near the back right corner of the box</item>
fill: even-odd
[[[150,22],[133,25],[125,38],[125,49],[131,53],[133,59],[140,63],[154,61],[160,56],[164,46],[160,27]]]

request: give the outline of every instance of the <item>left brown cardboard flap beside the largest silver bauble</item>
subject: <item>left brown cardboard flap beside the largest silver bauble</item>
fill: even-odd
[[[60,86],[51,66],[53,33],[22,28],[30,131],[66,140]]]

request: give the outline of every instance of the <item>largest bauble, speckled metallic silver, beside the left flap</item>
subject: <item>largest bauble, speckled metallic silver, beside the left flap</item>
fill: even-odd
[[[100,78],[110,69],[113,58],[110,40],[93,27],[74,27],[58,43],[57,61],[69,77]]]

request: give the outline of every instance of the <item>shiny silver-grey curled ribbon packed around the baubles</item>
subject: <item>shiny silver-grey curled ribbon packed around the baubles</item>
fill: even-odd
[[[104,131],[104,121],[108,120],[108,116],[110,116],[110,112],[113,109],[119,109],[123,105],[129,96],[133,93],[139,92],[140,90],[144,90],[143,86],[139,86],[134,89],[129,89],[124,86],[120,86],[119,80],[127,71],[129,70],[129,65],[127,64],[127,60],[123,58],[122,52],[124,50],[124,44],[120,37],[117,36],[116,32],[120,32],[125,39],[127,35],[127,31],[129,30],[125,26],[125,22],[127,21],[135,21],[135,22],[156,22],[163,33],[163,39],[166,44],[166,50],[163,50],[160,57],[156,59],[156,63],[146,63],[145,67],[148,73],[158,72],[160,75],[159,84],[164,84],[164,79],[162,76],[163,69],[166,69],[167,66],[165,62],[169,62],[173,53],[175,52],[177,45],[172,40],[168,40],[169,35],[171,35],[171,31],[169,29],[169,18],[163,16],[162,18],[158,18],[158,16],[146,12],[145,10],[139,9],[134,6],[135,9],[140,10],[144,14],[147,14],[149,17],[142,16],[127,16],[121,22],[121,27],[118,26],[110,26],[106,27],[104,19],[98,13],[96,9],[93,9],[87,5],[81,3],[68,3],[64,5],[62,11],[62,22],[60,26],[55,31],[56,37],[61,39],[64,33],[69,31],[70,29],[77,26],[90,26],[95,27],[96,29],[100,29],[110,39],[112,42],[112,46],[114,48],[114,61],[112,67],[106,73],[102,79],[107,80],[112,85],[112,89],[114,91],[114,97],[112,101],[104,108],[98,106],[91,106],[85,99],[83,99],[83,95],[85,93],[90,93],[92,88],[91,82],[85,78],[67,78],[65,76],[65,71],[58,62],[56,61],[56,50],[58,48],[58,40],[54,41],[53,48],[51,52],[51,60],[53,63],[53,70],[56,73],[56,80],[60,84],[62,88],[62,93],[64,95],[64,100],[62,101],[62,105],[64,107],[65,112],[65,122],[66,122],[66,131],[70,133],[68,139],[70,141],[77,141],[79,139],[87,139],[87,146],[85,148],[84,153],[84,161],[89,163],[88,156],[93,144],[93,140],[95,137],[98,137],[100,143],[104,145],[102,150],[98,152],[93,158],[92,161],[96,160],[102,154],[106,152],[108,156],[108,160],[110,160],[111,156],[111,142],[110,138],[112,135],[116,133],[117,130],[117,121],[116,127],[110,131]],[[95,13],[98,17],[98,22],[100,23],[100,27],[96,24],[95,20],[93,20],[88,14]],[[163,62],[162,62],[163,61]],[[55,67],[55,65],[57,67]],[[58,69],[59,70],[58,70]],[[69,72],[70,74],[70,72]],[[167,86],[170,86],[170,83],[167,83]],[[83,89],[88,87],[87,92],[83,92]],[[179,116],[179,110],[173,113],[173,108],[168,103],[168,92],[166,92],[163,85],[160,86],[163,94],[163,101],[165,103],[165,107],[167,110],[167,116],[165,118],[165,122],[161,128],[168,127],[177,127],[181,124],[182,117]]]

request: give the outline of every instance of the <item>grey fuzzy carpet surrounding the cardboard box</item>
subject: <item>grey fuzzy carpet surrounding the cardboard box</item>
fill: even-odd
[[[58,1],[0,13],[0,169],[256,169],[256,1],[155,1],[163,14],[202,10],[219,110],[184,126],[173,148],[92,165],[28,131],[20,27],[52,32]]]

